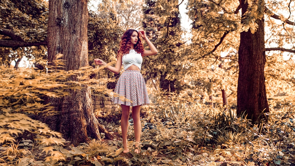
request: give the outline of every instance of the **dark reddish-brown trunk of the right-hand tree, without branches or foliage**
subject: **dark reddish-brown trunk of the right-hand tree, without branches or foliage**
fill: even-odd
[[[242,0],[242,18],[248,8],[246,0]],[[269,112],[266,98],[264,65],[266,62],[264,46],[264,19],[256,20],[257,31],[252,34],[241,32],[239,47],[239,78],[237,88],[237,114],[246,111],[253,123],[266,116],[259,115]],[[258,118],[259,117],[259,118]]]

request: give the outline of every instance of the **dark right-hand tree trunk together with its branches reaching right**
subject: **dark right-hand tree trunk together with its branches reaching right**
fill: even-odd
[[[264,74],[266,51],[281,50],[294,52],[294,50],[284,49],[283,47],[265,48],[264,14],[266,13],[274,19],[281,19],[283,26],[285,26],[284,23],[291,25],[294,25],[294,23],[288,19],[282,19],[282,17],[278,17],[271,12],[264,0],[242,0],[240,1],[240,7],[242,9],[242,32],[240,33],[239,47],[240,70],[237,91],[237,114],[241,115],[243,111],[246,111],[248,117],[255,123],[267,120],[267,116],[263,113],[269,112]],[[250,32],[248,31],[249,29]],[[286,30],[285,27],[284,30]],[[283,41],[284,43],[288,42],[286,40]]]

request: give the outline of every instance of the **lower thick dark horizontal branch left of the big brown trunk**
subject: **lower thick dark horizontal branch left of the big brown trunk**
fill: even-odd
[[[18,48],[18,47],[31,47],[47,45],[47,41],[41,42],[23,42],[19,40],[0,40],[0,47]]]

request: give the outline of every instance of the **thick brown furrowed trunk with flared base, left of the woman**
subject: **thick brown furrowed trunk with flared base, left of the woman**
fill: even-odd
[[[64,55],[62,59],[66,60],[64,70],[78,70],[87,66],[87,24],[87,0],[49,1],[49,61],[52,62],[55,55],[61,53]],[[74,77],[69,79],[78,81]],[[99,127],[103,127],[94,116],[90,88],[69,90],[69,93],[69,96],[59,99],[47,98],[45,102],[52,103],[60,114],[44,118],[43,121],[74,145],[88,142],[89,137],[101,139]]]

